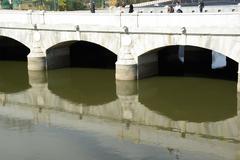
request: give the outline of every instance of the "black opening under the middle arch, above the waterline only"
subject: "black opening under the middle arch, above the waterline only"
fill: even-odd
[[[48,69],[65,67],[114,69],[117,55],[88,41],[66,41],[47,50]]]

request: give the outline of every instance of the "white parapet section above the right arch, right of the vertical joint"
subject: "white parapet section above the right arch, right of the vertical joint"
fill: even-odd
[[[129,16],[125,17],[130,19]],[[129,24],[128,20],[126,24]],[[137,15],[138,27],[240,27],[240,14],[139,14]]]

